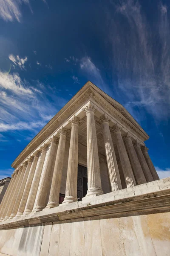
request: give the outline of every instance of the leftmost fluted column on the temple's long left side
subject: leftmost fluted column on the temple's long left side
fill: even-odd
[[[9,200],[9,198],[11,196],[11,192],[13,191],[14,183],[15,183],[15,180],[16,180],[16,177],[17,177],[17,175],[15,174],[15,171],[14,171],[14,173],[11,176],[12,176],[12,178],[11,178],[11,181],[9,183],[8,190],[6,191],[6,194],[3,197],[4,200],[1,203],[0,221],[2,221],[3,218],[6,216],[6,211],[5,210],[6,210],[6,207],[8,205],[8,200]]]

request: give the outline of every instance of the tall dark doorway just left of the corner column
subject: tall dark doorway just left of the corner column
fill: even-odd
[[[77,198],[81,201],[88,191],[88,169],[87,167],[78,165],[77,177]]]

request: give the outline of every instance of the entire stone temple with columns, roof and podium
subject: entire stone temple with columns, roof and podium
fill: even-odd
[[[169,255],[170,179],[159,180],[148,138],[88,81],[12,163],[0,253]]]

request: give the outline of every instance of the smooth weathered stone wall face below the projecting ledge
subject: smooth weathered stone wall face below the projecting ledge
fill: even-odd
[[[108,219],[80,218],[0,230],[2,255],[169,256],[169,252],[169,212]]]

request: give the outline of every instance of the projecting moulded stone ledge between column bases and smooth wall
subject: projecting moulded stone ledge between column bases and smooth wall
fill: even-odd
[[[170,212],[170,177],[2,221],[0,230],[53,221],[117,218],[153,212]]]

